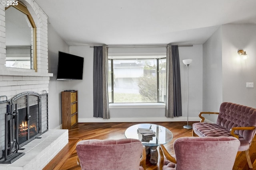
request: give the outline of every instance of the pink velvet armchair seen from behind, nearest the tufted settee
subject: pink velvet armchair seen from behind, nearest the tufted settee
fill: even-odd
[[[175,156],[160,145],[160,170],[232,170],[240,141],[235,137],[181,137],[173,146]]]

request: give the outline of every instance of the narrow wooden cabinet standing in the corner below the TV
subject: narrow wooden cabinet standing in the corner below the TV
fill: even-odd
[[[77,90],[61,92],[62,129],[71,129],[78,123]]]

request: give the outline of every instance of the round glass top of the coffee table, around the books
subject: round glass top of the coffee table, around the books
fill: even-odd
[[[142,124],[148,124],[148,123],[142,123]],[[155,125],[155,124],[151,124],[150,130],[156,132],[156,134],[150,135],[150,136],[143,136],[141,133],[137,131],[138,127],[140,127],[142,124],[137,124],[137,125],[128,127],[124,132],[125,137],[132,138],[132,139],[139,139],[143,145],[150,146],[150,147],[158,146],[160,144],[166,144],[172,140],[172,132],[169,129],[166,129],[161,125]]]

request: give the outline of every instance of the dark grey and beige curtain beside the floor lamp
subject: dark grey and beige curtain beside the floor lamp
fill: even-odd
[[[182,116],[179,60],[178,45],[168,44],[166,55],[166,117]]]

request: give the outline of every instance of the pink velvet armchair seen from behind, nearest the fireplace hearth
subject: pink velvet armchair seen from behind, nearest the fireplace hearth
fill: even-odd
[[[90,139],[76,144],[82,170],[146,170],[146,150],[137,139]]]

